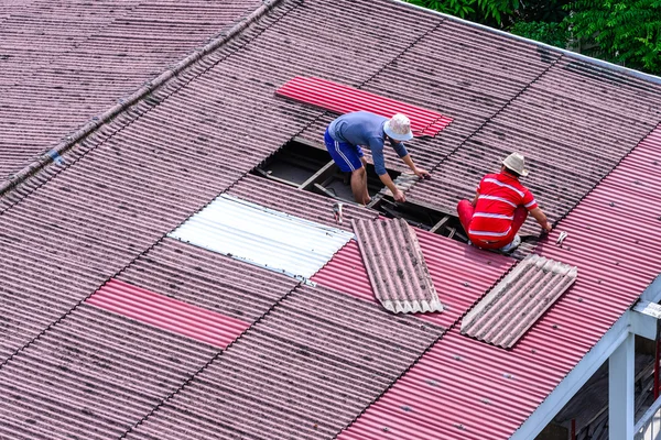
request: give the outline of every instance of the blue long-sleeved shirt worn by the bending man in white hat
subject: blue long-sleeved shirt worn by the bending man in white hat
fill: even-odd
[[[375,161],[375,170],[379,176],[382,176],[387,173],[383,161],[383,144],[386,143],[383,124],[386,121],[388,121],[388,118],[369,111],[355,111],[343,114],[330,122],[328,133],[337,142],[369,147]],[[398,142],[391,145],[400,157],[409,154],[403,143]]]

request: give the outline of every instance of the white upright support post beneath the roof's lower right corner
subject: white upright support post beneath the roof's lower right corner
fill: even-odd
[[[627,339],[608,360],[608,438],[633,440],[635,336]]]

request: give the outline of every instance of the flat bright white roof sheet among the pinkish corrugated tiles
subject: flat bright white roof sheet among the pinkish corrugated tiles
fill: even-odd
[[[306,279],[354,234],[224,194],[169,237]]]

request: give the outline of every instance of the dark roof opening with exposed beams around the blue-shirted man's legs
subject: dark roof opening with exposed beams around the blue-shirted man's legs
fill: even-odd
[[[387,169],[393,180],[401,173]],[[299,189],[354,202],[350,173],[343,173],[322,144],[294,138],[274,155],[254,167],[251,174]],[[384,186],[371,164],[367,164],[367,189],[375,198]]]

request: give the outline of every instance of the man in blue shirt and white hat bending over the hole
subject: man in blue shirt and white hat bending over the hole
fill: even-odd
[[[379,178],[390,189],[395,201],[407,201],[404,194],[395,186],[390,175],[386,172],[383,162],[383,145],[389,141],[401,160],[421,178],[430,177],[430,174],[418,168],[407,152],[402,141],[413,139],[411,121],[401,113],[391,119],[370,113],[368,111],[355,111],[337,118],[326,129],[324,141],[333,161],[343,172],[351,173],[351,193],[357,202],[367,205],[370,197],[367,191],[367,173],[361,146],[371,150],[375,162],[375,170]]]

